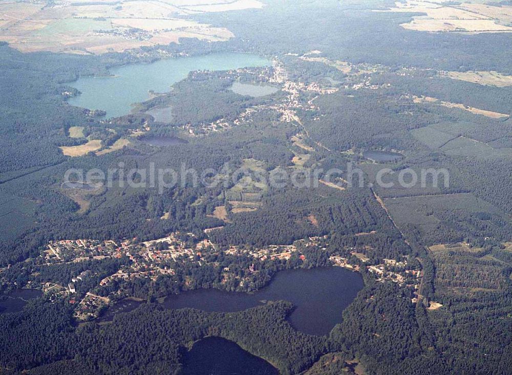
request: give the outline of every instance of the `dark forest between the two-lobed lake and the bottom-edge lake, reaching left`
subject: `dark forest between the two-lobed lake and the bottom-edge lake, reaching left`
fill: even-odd
[[[219,336],[290,374],[340,348],[326,337],[294,330],[285,320],[292,305],[283,301],[230,314],[144,304],[117,315],[111,324],[79,328],[69,324],[69,311],[63,307],[38,300],[21,313],[0,315],[1,346],[10,348],[0,352],[0,363],[14,371],[42,366],[31,373],[178,373],[191,342]]]

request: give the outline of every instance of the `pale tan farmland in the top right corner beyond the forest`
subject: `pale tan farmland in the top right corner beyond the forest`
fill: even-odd
[[[425,32],[510,32],[512,6],[484,4],[453,4],[451,2],[412,1],[396,2],[389,12],[423,13],[400,26]]]

